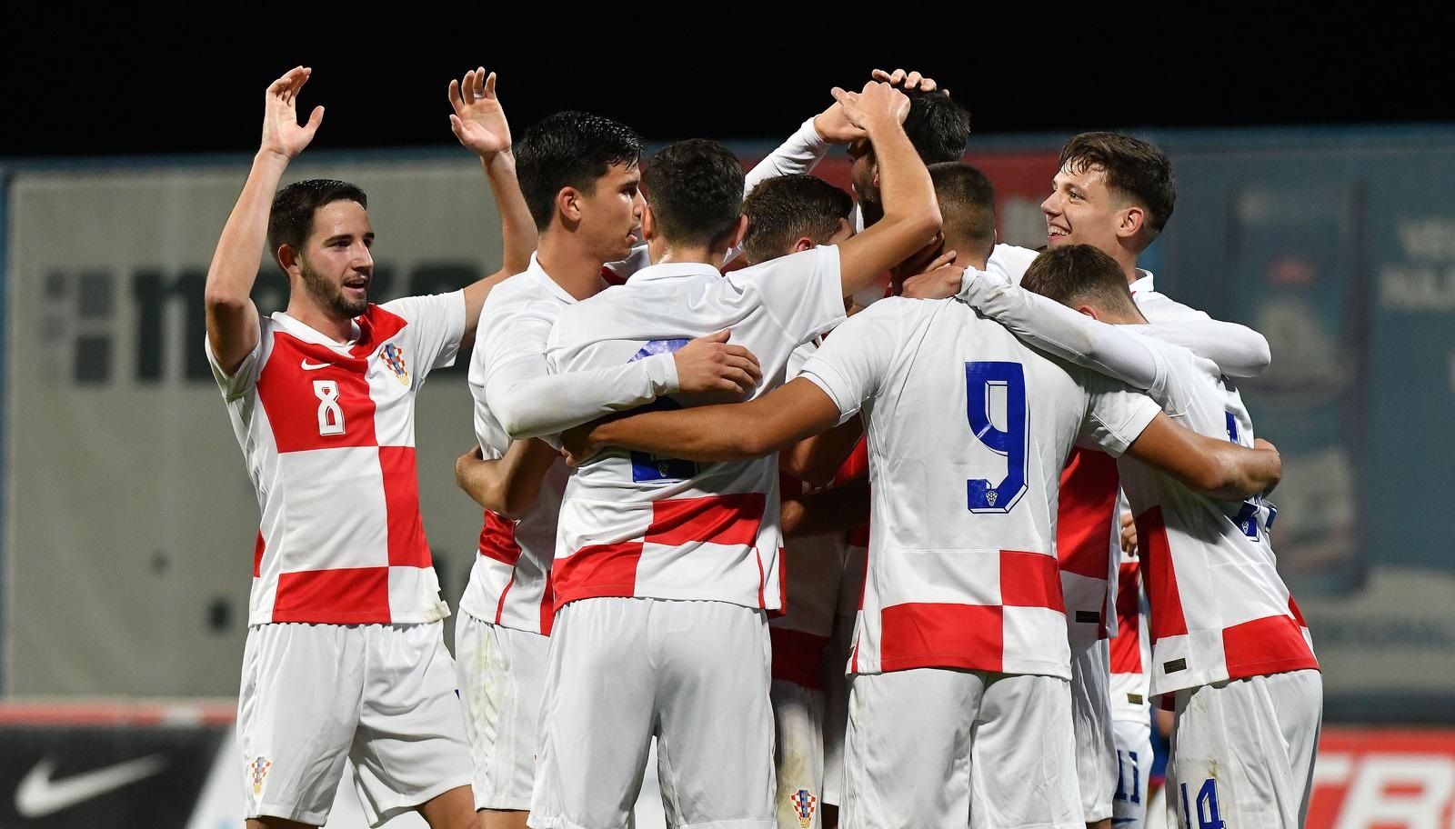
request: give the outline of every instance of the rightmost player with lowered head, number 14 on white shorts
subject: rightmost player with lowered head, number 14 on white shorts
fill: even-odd
[[[1064,246],[1027,271],[1024,291],[988,285],[979,305],[1037,346],[1147,387],[1202,435],[1251,444],[1247,409],[1218,365],[1165,342],[1180,326],[1148,326],[1125,284],[1097,249]],[[1170,813],[1184,829],[1302,826],[1323,685],[1275,566],[1276,510],[1259,497],[1202,497],[1141,464],[1119,465],[1151,602],[1151,691],[1174,705]]]

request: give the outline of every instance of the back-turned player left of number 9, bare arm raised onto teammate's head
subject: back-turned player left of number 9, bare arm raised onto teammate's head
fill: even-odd
[[[901,127],[906,99],[877,83],[835,96],[874,141],[895,195],[874,228],[720,273],[742,234],[742,167],[711,141],[671,144],[646,167],[643,231],[655,265],[562,313],[553,368],[620,367],[730,327],[760,359],[760,388],[781,384],[793,349],[844,319],[844,297],[938,227],[928,175]],[[774,467],[621,452],[572,476],[533,826],[623,825],[653,734],[672,825],[773,823]]]

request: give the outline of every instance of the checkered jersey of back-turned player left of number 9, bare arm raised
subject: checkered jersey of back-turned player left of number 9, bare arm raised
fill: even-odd
[[[624,365],[730,329],[758,358],[755,394],[783,384],[793,349],[844,319],[837,247],[722,273],[653,265],[626,285],[562,311],[551,371]],[[688,396],[655,406],[693,404]],[[777,457],[694,464],[608,451],[579,467],[562,500],[553,586],[557,606],[594,596],[713,599],[777,609]]]

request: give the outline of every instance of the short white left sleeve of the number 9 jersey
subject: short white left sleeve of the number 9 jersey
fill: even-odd
[[[803,364],[799,377],[824,390],[838,406],[840,422],[848,420],[864,401],[879,393],[889,374],[896,346],[899,316],[892,303],[874,303],[845,320]]]

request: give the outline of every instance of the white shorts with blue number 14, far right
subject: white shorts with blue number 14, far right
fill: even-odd
[[[1304,826],[1324,710],[1317,670],[1176,692],[1167,825]]]

